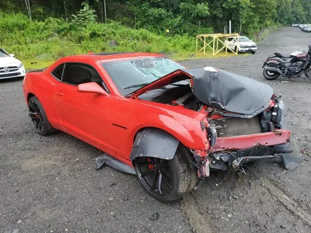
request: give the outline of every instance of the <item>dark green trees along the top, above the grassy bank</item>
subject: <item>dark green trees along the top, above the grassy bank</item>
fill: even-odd
[[[33,19],[44,21],[48,17],[72,16],[72,23],[86,26],[88,22],[104,22],[104,0],[33,0]],[[24,12],[20,0],[0,1],[0,12]],[[310,0],[105,0],[109,20],[121,22],[131,28],[144,28],[151,32],[170,36],[215,29],[215,33],[228,28],[253,35],[262,28],[278,24],[311,23]],[[96,10],[96,12],[95,12]],[[181,18],[180,18],[181,17]],[[180,20],[177,22],[177,19]],[[174,23],[172,23],[174,22]],[[177,22],[177,24],[175,24]],[[204,22],[204,23],[203,23]]]

